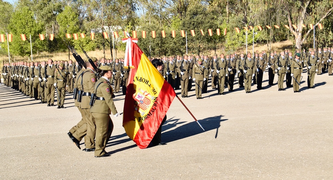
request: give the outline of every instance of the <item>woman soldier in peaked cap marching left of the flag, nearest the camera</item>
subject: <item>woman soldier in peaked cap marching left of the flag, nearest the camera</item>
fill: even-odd
[[[96,124],[96,137],[95,137],[95,157],[110,156],[105,152],[105,146],[110,139],[113,122],[110,114],[118,116],[117,109],[113,103],[113,90],[111,88],[109,79],[112,77],[112,70],[110,66],[100,67],[101,78],[95,84],[96,101],[91,106],[90,112],[95,118]]]

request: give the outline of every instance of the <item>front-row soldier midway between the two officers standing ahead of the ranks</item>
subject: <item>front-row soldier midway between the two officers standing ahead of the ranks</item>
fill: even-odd
[[[244,60],[244,65],[240,67],[244,72],[244,84],[245,84],[245,92],[251,92],[251,83],[252,77],[254,77],[254,60],[251,59],[251,53],[247,53],[247,57]]]

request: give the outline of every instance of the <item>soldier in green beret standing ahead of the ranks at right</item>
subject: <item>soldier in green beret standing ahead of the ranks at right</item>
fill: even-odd
[[[303,67],[302,67],[302,61],[300,60],[301,54],[300,53],[296,53],[295,59],[293,59],[290,63],[291,63],[291,77],[294,77],[298,83],[301,83],[301,76],[302,75],[302,71],[303,71]],[[300,92],[299,91],[299,85],[296,83],[294,79],[293,82],[293,87],[294,87],[294,92]]]

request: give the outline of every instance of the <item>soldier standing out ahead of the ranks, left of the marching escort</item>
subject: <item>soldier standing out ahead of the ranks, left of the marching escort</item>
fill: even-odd
[[[57,109],[60,108],[65,108],[64,107],[64,101],[65,101],[65,96],[66,96],[66,80],[67,80],[67,69],[65,69],[64,63],[59,64],[59,68],[56,69],[56,72],[54,73],[54,84],[53,86],[57,88],[58,90],[58,107]]]

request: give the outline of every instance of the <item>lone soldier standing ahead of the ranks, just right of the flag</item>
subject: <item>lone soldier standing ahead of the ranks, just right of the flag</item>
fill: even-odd
[[[199,58],[197,63],[193,65],[192,77],[195,82],[196,99],[202,99],[201,91],[203,88],[203,82],[206,81],[206,71],[205,67],[202,65],[201,58]]]

